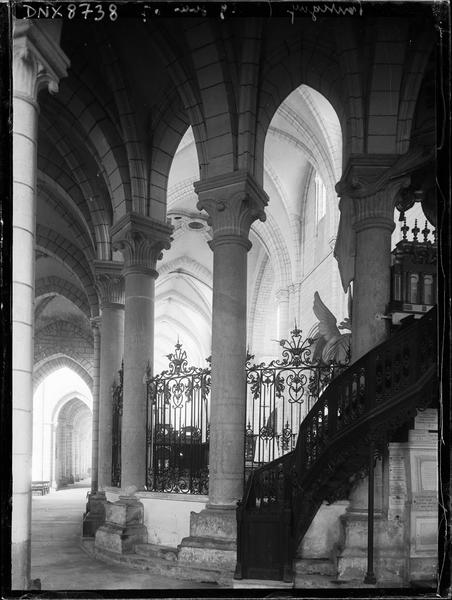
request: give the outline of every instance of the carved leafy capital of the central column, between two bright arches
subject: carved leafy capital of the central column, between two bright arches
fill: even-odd
[[[223,236],[247,240],[252,223],[257,219],[265,221],[268,196],[246,171],[234,171],[194,185],[199,198],[197,207],[209,214],[214,241]]]

